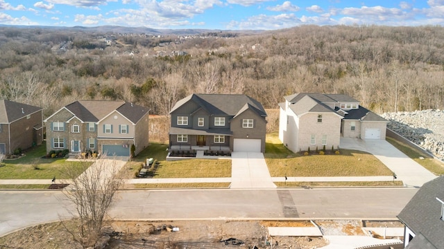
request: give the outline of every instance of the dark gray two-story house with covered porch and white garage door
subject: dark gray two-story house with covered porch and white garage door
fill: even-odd
[[[191,94],[179,100],[170,115],[170,148],[265,151],[266,112],[247,95]]]

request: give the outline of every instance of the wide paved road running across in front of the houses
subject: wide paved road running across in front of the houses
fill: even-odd
[[[415,188],[136,190],[117,194],[115,219],[395,219]],[[61,192],[0,192],[0,236],[69,216]]]

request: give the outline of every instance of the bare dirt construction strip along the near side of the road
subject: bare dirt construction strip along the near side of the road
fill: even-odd
[[[399,222],[367,222],[399,226]],[[362,235],[361,221],[319,221],[324,234]],[[75,228],[72,222],[67,227]],[[309,227],[310,221],[112,221],[105,248],[322,248],[323,237],[269,237],[268,227]],[[0,248],[81,248],[60,222],[36,225],[0,238]]]

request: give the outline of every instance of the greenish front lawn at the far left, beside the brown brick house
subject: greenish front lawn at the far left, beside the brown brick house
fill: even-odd
[[[78,163],[67,162],[66,158],[42,158],[46,154],[45,144],[23,153],[21,158],[3,160],[0,179],[63,179],[66,167],[78,167]]]

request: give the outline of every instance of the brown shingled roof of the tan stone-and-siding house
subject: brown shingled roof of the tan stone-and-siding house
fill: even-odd
[[[62,109],[67,109],[82,122],[98,122],[106,116],[109,116],[110,113],[118,111],[123,117],[127,118],[134,124],[149,111],[148,108],[141,107],[137,104],[109,100],[77,100]],[[58,111],[56,113],[58,113]]]

